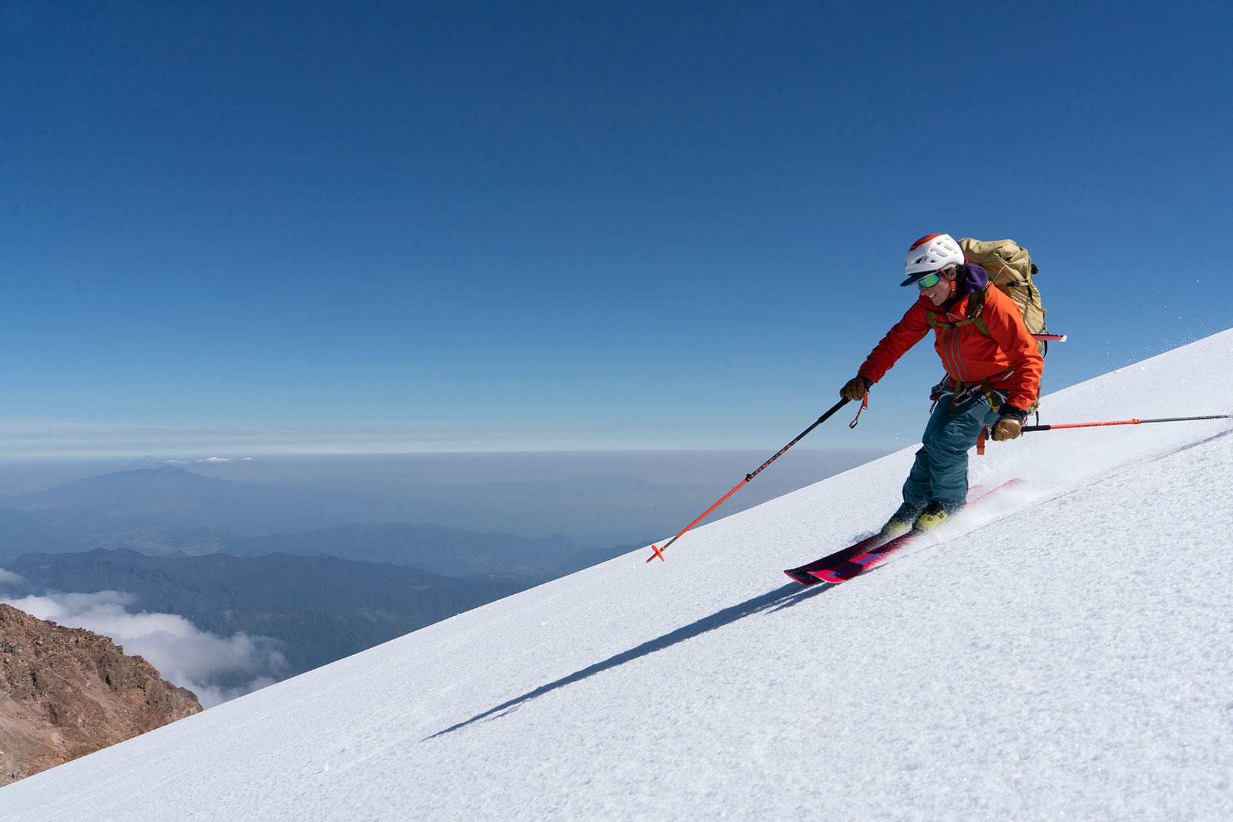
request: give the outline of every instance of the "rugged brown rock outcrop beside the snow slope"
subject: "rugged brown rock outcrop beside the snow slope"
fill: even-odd
[[[0,604],[0,785],[199,711],[107,637]]]

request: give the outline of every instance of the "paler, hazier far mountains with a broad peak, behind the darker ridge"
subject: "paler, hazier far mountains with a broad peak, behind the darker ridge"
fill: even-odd
[[[327,553],[443,576],[557,576],[637,546],[594,548],[404,520],[367,493],[213,479],[184,468],[120,471],[0,498],[0,564],[26,553],[126,548],[150,556]]]

